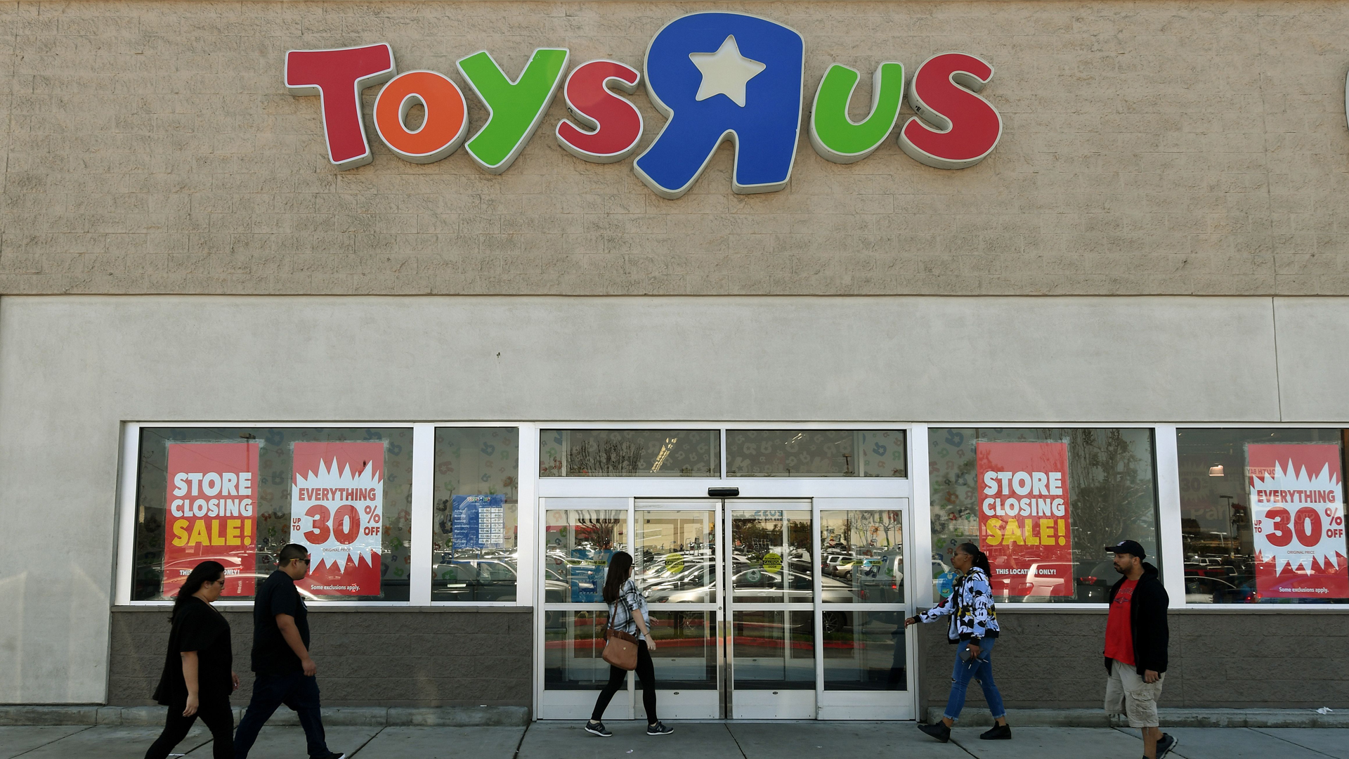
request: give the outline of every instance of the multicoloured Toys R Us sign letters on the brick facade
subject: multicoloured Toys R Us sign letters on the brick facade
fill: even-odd
[[[328,158],[340,170],[370,163],[360,93],[384,84],[375,99],[375,134],[403,161],[430,163],[460,146],[484,172],[499,174],[534,135],[558,89],[573,120],[557,124],[557,142],[596,163],[637,151],[642,115],[615,90],[631,95],[645,81],[648,97],[666,117],[633,172],[656,194],[683,196],[724,140],[735,147],[731,189],[776,192],[786,186],[800,138],[805,41],[789,27],[747,14],[706,12],[665,24],[646,49],[645,72],[618,61],[588,61],[568,73],[565,47],[534,50],[514,81],[486,50],[461,58],[459,73],[487,107],[487,122],[468,135],[468,105],[449,77],[397,73],[387,43],[286,54],[286,90],[320,96]],[[565,76],[564,76],[565,74]],[[820,157],[853,163],[894,131],[908,99],[917,113],[898,130],[900,147],[938,169],[966,169],[985,159],[1002,136],[1002,117],[977,95],[993,66],[967,53],[940,53],[912,76],[886,61],[871,76],[871,108],[854,122],[849,101],[861,73],[835,63],[815,90],[809,140]],[[422,105],[425,117],[407,127]]]

